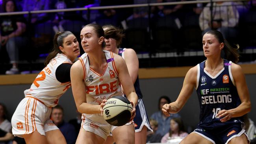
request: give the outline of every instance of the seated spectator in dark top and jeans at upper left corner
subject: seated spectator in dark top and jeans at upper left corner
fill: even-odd
[[[4,12],[15,12],[17,7],[14,0],[6,0],[3,4]],[[0,19],[0,49],[6,46],[12,68],[6,74],[18,74],[17,63],[19,50],[26,45],[26,20],[21,15],[6,15]]]

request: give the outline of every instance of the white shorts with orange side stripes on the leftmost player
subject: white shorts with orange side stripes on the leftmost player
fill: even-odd
[[[32,96],[26,96],[16,108],[11,118],[12,133],[15,136],[30,134],[37,130],[41,135],[58,129],[50,120],[52,108]]]

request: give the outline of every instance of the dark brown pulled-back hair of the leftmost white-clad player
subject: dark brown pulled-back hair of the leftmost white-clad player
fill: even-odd
[[[54,35],[54,39],[53,39],[54,46],[52,48],[52,52],[50,52],[50,54],[46,57],[45,65],[48,65],[51,59],[53,59],[58,53],[59,54],[62,53],[61,50],[59,49],[59,46],[63,47],[63,39],[68,35],[74,35],[74,34],[71,33],[70,31],[64,31],[64,32],[59,31]]]

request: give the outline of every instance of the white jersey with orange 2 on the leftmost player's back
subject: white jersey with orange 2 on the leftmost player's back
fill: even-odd
[[[48,107],[55,107],[61,95],[71,86],[70,81],[61,83],[56,79],[56,69],[63,63],[72,64],[72,61],[64,54],[57,54],[37,75],[30,89],[24,91],[25,96],[32,96]]]

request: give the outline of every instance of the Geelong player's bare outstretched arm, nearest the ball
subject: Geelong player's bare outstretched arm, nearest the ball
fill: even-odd
[[[162,111],[166,116],[170,113],[178,113],[191,96],[197,83],[197,66],[187,72],[180,94],[175,102],[163,105]]]

